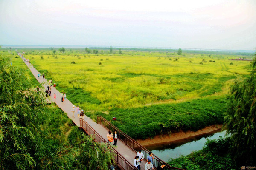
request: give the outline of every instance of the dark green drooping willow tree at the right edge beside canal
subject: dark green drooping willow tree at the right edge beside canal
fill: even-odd
[[[231,86],[224,121],[232,142],[231,155],[238,167],[256,162],[256,54],[251,66],[250,76]]]

